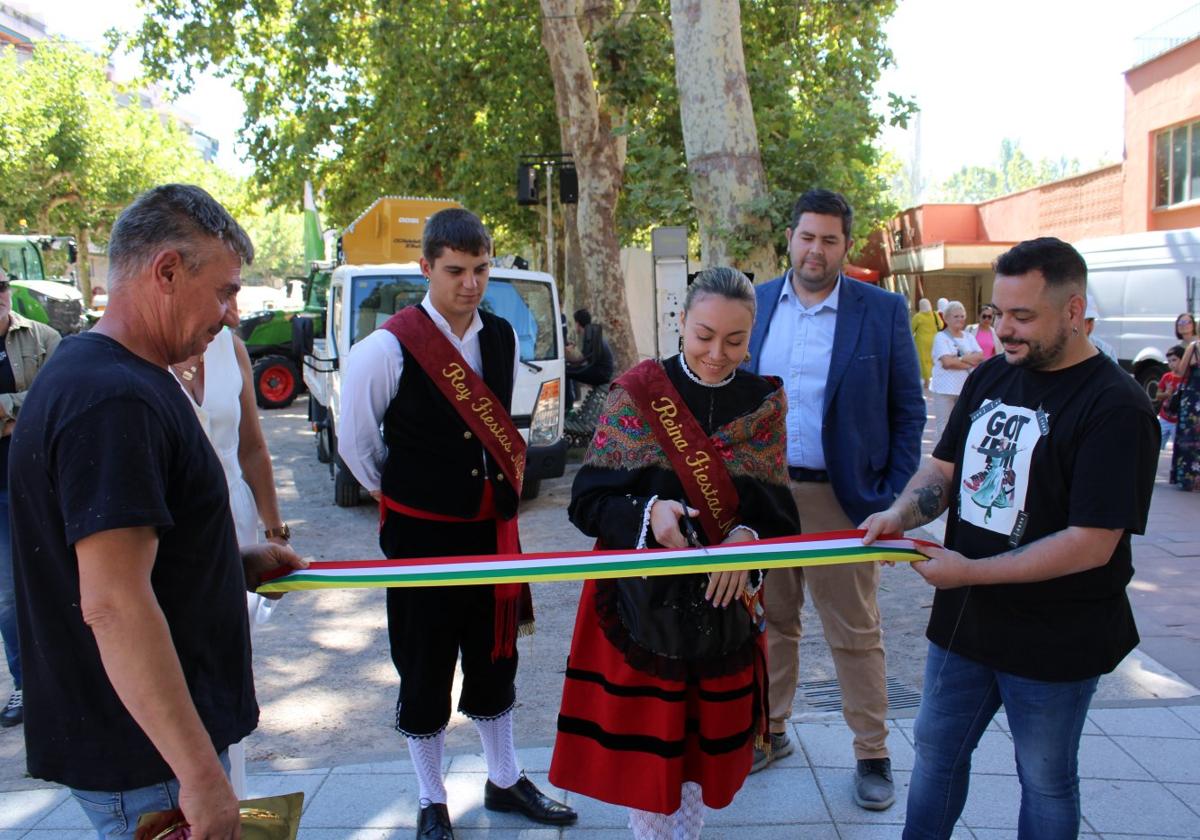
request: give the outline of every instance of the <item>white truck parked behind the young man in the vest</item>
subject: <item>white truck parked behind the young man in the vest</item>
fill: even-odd
[[[337,455],[341,414],[341,359],[406,306],[425,296],[416,263],[340,265],[330,278],[325,335],[301,337],[308,419],[317,433],[317,457],[331,464],[334,500],[359,504],[362,488]],[[562,316],[554,280],[540,271],[493,268],[481,306],[512,324],[521,365],[512,389],[512,420],[529,444],[522,498],[534,498],[545,478],[563,474],[563,397],[566,394]]]

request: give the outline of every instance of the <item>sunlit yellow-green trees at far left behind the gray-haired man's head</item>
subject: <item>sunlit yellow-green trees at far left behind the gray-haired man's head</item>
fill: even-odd
[[[242,222],[258,252],[248,281],[304,271],[300,215],[205,163],[173,120],[108,79],[103,59],[60,41],[23,62],[0,50],[0,232],[103,245],[120,210],[167,181],[203,186]],[[62,271],[62,254],[52,256]]]

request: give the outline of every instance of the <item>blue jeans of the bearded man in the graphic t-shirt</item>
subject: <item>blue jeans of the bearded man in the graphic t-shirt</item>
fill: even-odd
[[[1099,677],[1046,683],[929,646],[905,840],[949,838],[967,800],[971,754],[1001,704],[1021,781],[1020,840],[1079,834],[1079,738]]]

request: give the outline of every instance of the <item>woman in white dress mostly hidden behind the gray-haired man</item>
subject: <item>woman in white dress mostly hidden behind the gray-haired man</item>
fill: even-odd
[[[287,545],[292,532],[280,516],[271,456],[258,422],[245,344],[224,328],[203,356],[172,365],[172,371],[191,398],[196,416],[221,460],[238,544],[253,545],[265,538],[269,542]],[[263,532],[258,529],[259,518],[266,526]],[[270,617],[275,602],[247,593],[246,604],[251,623],[262,624]],[[229,748],[229,764],[234,791],[245,798],[246,750],[241,743]]]

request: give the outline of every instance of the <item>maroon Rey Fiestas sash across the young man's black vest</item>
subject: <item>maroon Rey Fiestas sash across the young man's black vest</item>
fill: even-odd
[[[526,443],[484,378],[470,370],[462,354],[420,306],[404,307],[384,322],[380,329],[396,336],[412,354],[496,460],[520,497],[524,482]]]

